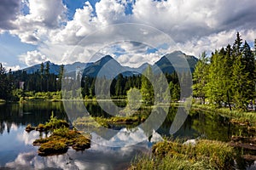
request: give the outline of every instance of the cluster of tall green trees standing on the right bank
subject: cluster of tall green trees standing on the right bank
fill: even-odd
[[[216,50],[210,63],[202,54],[195,67],[194,95],[210,105],[222,107],[234,105],[236,110],[246,111],[255,99],[255,56],[247,42],[242,43],[239,32],[232,48]],[[204,61],[203,61],[204,60]]]

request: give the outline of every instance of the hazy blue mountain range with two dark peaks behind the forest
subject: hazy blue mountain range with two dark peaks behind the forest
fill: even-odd
[[[187,63],[184,62],[185,60]],[[196,59],[195,56],[183,54],[181,51],[174,51],[162,56],[154,63],[154,65],[144,63],[138,68],[120,65],[119,62],[113,59],[110,55],[106,55],[94,63],[75,62],[73,64],[64,65],[64,68],[65,74],[70,77],[73,77],[78,69],[82,71],[83,76],[88,77],[116,77],[119,73],[122,73],[125,77],[129,77],[134,74],[143,73],[148,66],[151,66],[152,71],[155,74],[160,73],[160,70],[164,73],[172,73],[175,70],[183,71],[185,68],[188,68],[188,65],[190,71],[194,71],[197,61],[198,59]],[[44,68],[47,62],[44,63]],[[40,68],[41,64],[33,65],[23,69],[23,71],[26,71],[28,74],[32,74],[33,72],[40,71]],[[49,62],[49,73],[58,75],[60,69],[61,65],[55,65],[54,63]]]

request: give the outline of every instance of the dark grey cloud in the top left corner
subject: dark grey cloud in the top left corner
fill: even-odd
[[[20,2],[17,0],[1,0],[0,11],[0,31],[1,29],[13,29],[14,25],[11,23],[11,20],[15,20],[17,14],[19,14]]]

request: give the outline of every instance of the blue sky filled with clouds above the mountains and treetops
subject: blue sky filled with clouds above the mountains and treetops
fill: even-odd
[[[233,44],[253,48],[255,0],[1,0],[0,63],[18,70],[51,61],[153,64],[181,50],[198,57]]]

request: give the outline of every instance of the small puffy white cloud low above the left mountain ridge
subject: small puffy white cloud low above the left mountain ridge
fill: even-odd
[[[44,54],[41,54],[37,50],[28,51],[26,54],[20,55],[20,61],[24,62],[26,65],[36,65],[49,60]]]

